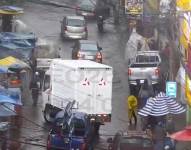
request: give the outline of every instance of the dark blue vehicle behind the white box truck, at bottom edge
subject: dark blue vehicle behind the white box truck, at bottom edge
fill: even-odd
[[[59,119],[48,135],[47,150],[87,150],[91,147],[93,126],[88,115],[73,113],[68,119]]]

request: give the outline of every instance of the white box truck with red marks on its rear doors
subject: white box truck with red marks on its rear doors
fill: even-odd
[[[98,124],[111,121],[112,67],[90,60],[53,59],[45,73],[42,96],[44,119],[75,100],[75,108]]]

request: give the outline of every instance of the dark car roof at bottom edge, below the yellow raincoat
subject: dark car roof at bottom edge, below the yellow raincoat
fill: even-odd
[[[108,150],[154,150],[151,137],[142,131],[118,132],[108,143]]]

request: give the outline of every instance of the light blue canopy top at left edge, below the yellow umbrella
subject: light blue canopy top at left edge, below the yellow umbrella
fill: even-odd
[[[10,103],[10,104],[14,104],[14,105],[22,105],[21,101],[19,101],[18,99],[11,98],[8,95],[0,94],[0,104],[2,104],[2,103]]]

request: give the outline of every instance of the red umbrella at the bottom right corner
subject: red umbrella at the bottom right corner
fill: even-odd
[[[178,141],[191,141],[191,126],[173,133],[170,137]]]

